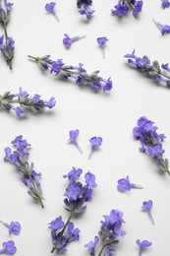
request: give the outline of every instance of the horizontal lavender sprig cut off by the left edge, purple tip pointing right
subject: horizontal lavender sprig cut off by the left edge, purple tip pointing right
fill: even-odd
[[[49,100],[43,100],[39,95],[29,96],[22,88],[17,94],[6,92],[0,96],[0,107],[3,106],[8,111],[14,110],[18,117],[28,113],[28,111],[37,113],[45,107],[52,108],[55,104],[56,100],[53,96]]]

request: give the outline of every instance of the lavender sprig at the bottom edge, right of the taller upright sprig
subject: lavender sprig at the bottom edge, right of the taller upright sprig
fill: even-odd
[[[123,213],[119,210],[112,210],[109,216],[103,216],[105,221],[101,221],[100,230],[98,236],[94,237],[94,241],[90,241],[85,244],[85,247],[90,252],[91,256],[95,255],[96,245],[101,243],[101,250],[98,256],[102,255],[114,255],[116,251],[115,245],[119,242],[118,236],[124,236],[125,231],[121,230],[123,220]]]

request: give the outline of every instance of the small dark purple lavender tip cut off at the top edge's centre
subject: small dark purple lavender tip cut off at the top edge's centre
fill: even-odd
[[[95,12],[90,8],[91,4],[92,4],[92,0],[77,0],[77,6],[81,8],[79,13],[81,15],[85,14],[87,20],[90,20],[91,15]]]

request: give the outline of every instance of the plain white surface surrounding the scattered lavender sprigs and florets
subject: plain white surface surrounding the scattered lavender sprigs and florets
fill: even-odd
[[[149,256],[169,255],[170,177],[161,175],[153,160],[139,152],[140,143],[133,138],[133,128],[141,116],[155,121],[158,132],[167,138],[163,143],[165,158],[170,156],[170,91],[158,86],[129,65],[123,58],[136,49],[137,55],[147,55],[151,60],[170,63],[170,35],[161,35],[152,22],[155,17],[162,24],[170,25],[170,9],[163,10],[161,1],[144,1],[139,19],[130,14],[119,19],[110,10],[117,1],[93,1],[93,18],[86,22],[78,13],[75,1],[58,1],[56,10],[61,20],[45,13],[46,0],[16,0],[8,26],[9,35],[16,40],[13,71],[0,58],[0,94],[17,93],[19,87],[32,96],[44,99],[55,96],[56,107],[39,115],[17,118],[14,113],[0,110],[0,218],[6,222],[19,221],[19,236],[8,235],[0,226],[0,243],[14,239],[18,256],[51,255],[52,242],[47,224],[59,217],[64,221],[68,213],[64,209],[63,194],[67,181],[63,174],[73,166],[84,173],[90,170],[96,175],[98,187],[93,200],[87,204],[85,214],[74,223],[82,230],[80,241],[68,246],[67,255],[89,255],[84,245],[97,234],[103,215],[112,209],[124,213],[123,229],[127,235],[120,239],[116,255],[136,256],[136,239],[147,239],[152,246],[143,252]],[[0,29],[1,33],[2,28]],[[75,42],[68,50],[62,43],[63,34],[86,37]],[[98,36],[107,36],[106,58],[102,58],[96,43]],[[43,73],[28,60],[28,54],[50,54],[67,64],[85,64],[88,73],[100,70],[100,75],[113,80],[113,90],[105,95],[95,94],[89,88],[80,88],[72,81],[63,82],[48,71]],[[69,145],[69,130],[80,129],[81,155],[74,145]],[[41,186],[45,209],[35,205],[27,194],[13,165],[4,162],[4,148],[18,135],[31,144],[30,161],[34,169],[42,173]],[[90,150],[88,139],[103,138],[102,147],[87,160]],[[116,185],[119,178],[130,176],[142,190],[121,194]],[[142,212],[142,201],[152,200],[155,225]]]

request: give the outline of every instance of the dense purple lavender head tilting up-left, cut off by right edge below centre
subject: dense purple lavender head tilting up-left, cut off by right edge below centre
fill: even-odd
[[[167,172],[170,175],[168,160],[163,159],[164,150],[162,149],[162,142],[165,135],[158,134],[158,129],[153,125],[154,122],[142,116],[138,120],[138,126],[134,128],[134,138],[142,143],[140,150],[147,153],[151,159],[157,161],[157,166],[161,171]]]

